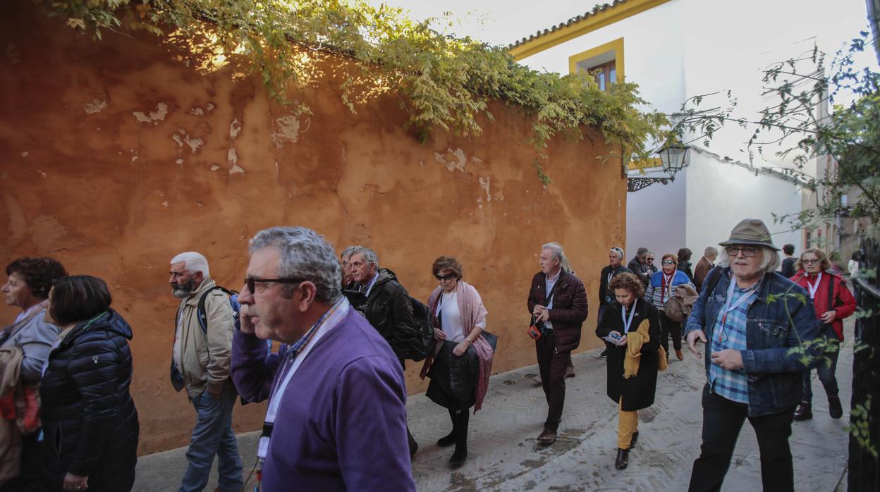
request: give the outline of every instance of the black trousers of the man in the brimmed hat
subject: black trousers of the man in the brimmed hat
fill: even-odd
[[[766,491],[795,490],[795,473],[791,465],[791,422],[795,408],[779,414],[748,416],[748,405],[709,393],[703,388],[703,444],[700,458],[693,462],[690,492],[721,490],[724,475],[737,445],[739,430],[749,419],[761,455],[761,484]]]

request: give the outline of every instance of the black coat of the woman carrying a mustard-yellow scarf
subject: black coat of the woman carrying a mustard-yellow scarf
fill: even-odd
[[[628,314],[628,313],[627,313]],[[635,314],[629,331],[639,329],[643,319],[648,319],[648,334],[650,340],[642,344],[642,360],[639,362],[639,372],[632,378],[623,377],[623,359],[626,355],[626,347],[618,347],[605,341],[608,348],[606,359],[608,363],[608,398],[614,402],[620,402],[623,396],[623,410],[631,412],[642,408],[648,408],[654,404],[654,393],[657,386],[657,349],[660,347],[660,313],[657,308],[644,299],[635,303]],[[602,319],[596,328],[596,335],[601,339],[608,336],[612,331],[623,333],[623,318],[620,314],[620,304],[614,301],[605,308]]]

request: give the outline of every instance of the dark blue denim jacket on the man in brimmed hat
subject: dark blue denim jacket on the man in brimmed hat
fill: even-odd
[[[715,289],[708,292],[714,275],[722,275]],[[706,276],[707,288],[693,305],[685,334],[702,330],[711,340],[715,318],[722,311],[730,286],[730,268],[715,268]],[[768,297],[773,297],[768,300]],[[749,416],[776,414],[793,408],[801,400],[803,371],[816,367],[821,350],[815,345],[806,350],[810,363],[804,365],[803,353],[789,352],[801,343],[819,336],[819,323],[812,301],[803,288],[782,275],[764,275],[758,297],[749,307],[745,327],[747,349],[742,350],[743,369],[749,381]],[[710,344],[706,344],[708,378]]]

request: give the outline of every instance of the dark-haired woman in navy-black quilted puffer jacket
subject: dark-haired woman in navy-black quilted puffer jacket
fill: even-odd
[[[90,275],[49,291],[47,320],[62,333],[40,385],[45,490],[124,492],[135,483],[131,327],[110,302],[106,283]]]

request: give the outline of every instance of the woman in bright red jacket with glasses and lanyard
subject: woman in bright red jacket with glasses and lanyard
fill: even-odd
[[[822,328],[823,335],[838,345],[843,341],[843,319],[855,312],[855,297],[849,292],[843,278],[831,273],[831,261],[821,249],[804,250],[796,263],[796,268],[797,273],[791,277],[792,282],[797,283],[810,294],[813,307],[816,309],[816,317],[825,324]],[[834,377],[839,350],[838,348],[833,352],[825,352],[828,360],[822,361],[816,369],[819,381],[825,386],[825,393],[828,395],[828,413],[833,419],[839,419],[843,415],[837,378]],[[810,371],[804,371],[803,397],[801,404],[795,410],[795,420],[801,421],[813,417],[812,400]]]

